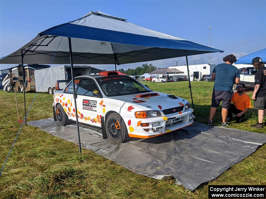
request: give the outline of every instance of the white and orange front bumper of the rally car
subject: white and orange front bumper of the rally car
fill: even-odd
[[[147,118],[147,119],[134,119],[134,123],[131,127],[128,126],[128,134],[130,137],[136,138],[149,138],[157,136],[163,133],[182,129],[186,126],[193,124],[195,116],[192,114],[193,109],[188,109],[182,113],[168,114],[166,116]],[[124,118],[125,123],[127,119]],[[142,126],[143,123],[148,123],[146,126]],[[141,125],[142,124],[142,125]]]

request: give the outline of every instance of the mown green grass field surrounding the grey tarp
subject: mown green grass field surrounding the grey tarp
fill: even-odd
[[[152,90],[190,100],[188,82],[150,83]],[[209,117],[213,82],[192,82],[197,122]],[[26,108],[35,93],[26,93]],[[251,97],[252,93],[248,93]],[[14,93],[0,91],[0,166],[20,129]],[[20,118],[23,118],[23,94],[18,93]],[[53,117],[53,96],[39,93],[28,121]],[[257,112],[251,109],[243,124],[231,122],[230,128],[265,133],[251,128]],[[221,107],[214,125],[221,124]],[[208,185],[265,185],[266,145],[234,165],[215,180],[202,184],[194,192],[175,185],[174,180],[156,180],[135,174],[92,151],[79,155],[74,143],[56,138],[36,127],[23,127],[0,176],[0,198],[208,198]]]

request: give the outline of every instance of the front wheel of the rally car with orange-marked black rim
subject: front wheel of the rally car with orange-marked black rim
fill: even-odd
[[[125,122],[118,113],[112,113],[108,116],[105,129],[107,137],[112,143],[120,144],[130,139]]]

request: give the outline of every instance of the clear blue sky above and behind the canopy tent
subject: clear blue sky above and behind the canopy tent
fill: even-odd
[[[0,0],[0,57],[32,40],[38,32],[100,10],[158,32],[209,45],[225,51],[212,53],[221,63],[228,54],[241,57],[266,48],[266,1],[3,1]],[[207,63],[208,54],[195,56]],[[178,65],[185,58],[177,58]],[[149,61],[157,67],[176,65],[176,58]],[[135,68],[143,63],[120,65]],[[194,57],[189,57],[194,64]],[[8,65],[1,64],[1,70]],[[9,65],[14,66],[14,65]],[[113,65],[91,65],[113,70]]]

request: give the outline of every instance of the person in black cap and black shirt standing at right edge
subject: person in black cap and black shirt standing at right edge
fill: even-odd
[[[252,99],[254,100],[254,109],[258,110],[258,124],[251,125],[252,127],[262,129],[263,118],[266,114],[266,67],[260,57],[255,57],[252,64],[257,70],[255,75],[255,88]],[[266,122],[264,123],[266,125]]]

